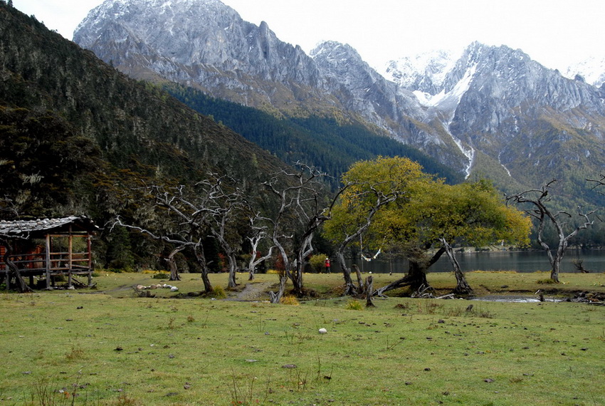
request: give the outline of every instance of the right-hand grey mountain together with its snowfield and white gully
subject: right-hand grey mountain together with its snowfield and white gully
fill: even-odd
[[[419,97],[426,123],[440,123],[451,136],[469,175],[500,167],[508,177],[542,182],[547,172],[567,177],[565,161],[598,172],[602,164],[594,162],[605,157],[602,91],[506,46],[473,43],[457,60],[448,57],[391,61],[385,71]]]

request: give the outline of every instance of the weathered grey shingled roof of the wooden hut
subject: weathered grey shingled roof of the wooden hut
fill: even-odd
[[[58,219],[16,220],[13,222],[0,221],[0,235],[4,236],[36,236],[41,234],[65,233],[70,230],[93,233],[98,231],[93,220],[86,216],[70,216]]]

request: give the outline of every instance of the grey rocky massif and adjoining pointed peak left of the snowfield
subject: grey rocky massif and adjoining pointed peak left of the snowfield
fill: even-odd
[[[385,80],[350,46],[327,42],[312,57],[267,24],[243,21],[219,0],[107,0],[74,41],[135,78],[163,78],[252,107],[362,118],[402,142],[443,144],[409,90]],[[456,150],[444,162],[461,167]]]

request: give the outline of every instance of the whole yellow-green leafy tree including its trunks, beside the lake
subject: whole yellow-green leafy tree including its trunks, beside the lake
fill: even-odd
[[[413,290],[427,287],[426,271],[444,253],[456,271],[456,293],[471,293],[451,245],[529,241],[530,220],[507,207],[489,182],[445,184],[400,157],[357,162],[343,179],[356,187],[342,194],[332,219],[325,224],[325,234],[340,242],[337,259],[347,286],[352,281],[344,265],[342,241],[350,243],[362,234],[368,244],[399,249],[409,260],[408,274],[377,289],[378,294],[404,286]],[[357,291],[361,286],[359,283]]]

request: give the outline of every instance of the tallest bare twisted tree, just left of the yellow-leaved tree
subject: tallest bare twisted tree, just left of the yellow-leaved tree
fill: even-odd
[[[327,219],[330,219],[332,207],[344,191],[341,188],[328,202],[329,196],[322,179],[328,175],[315,167],[296,164],[297,172],[281,170],[265,187],[278,199],[279,209],[273,219],[265,219],[270,224],[270,238],[283,259],[285,276],[293,283],[296,296],[304,295],[302,271],[305,261],[313,251],[313,233]],[[286,179],[286,184],[280,181]],[[289,229],[287,218],[298,222],[297,229]],[[286,234],[286,231],[290,231]],[[297,235],[297,232],[299,234]],[[298,237],[294,241],[295,235]],[[291,246],[291,249],[289,248]],[[294,260],[291,260],[293,257]]]

